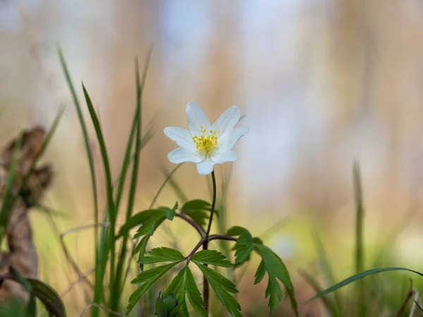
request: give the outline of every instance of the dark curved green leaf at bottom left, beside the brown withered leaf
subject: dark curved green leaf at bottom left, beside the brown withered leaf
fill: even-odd
[[[28,278],[27,280],[32,286],[34,296],[44,304],[51,316],[66,317],[65,306],[61,297],[51,286],[37,279]]]

